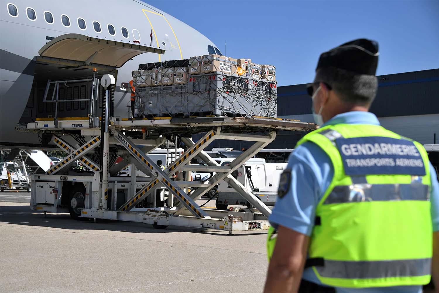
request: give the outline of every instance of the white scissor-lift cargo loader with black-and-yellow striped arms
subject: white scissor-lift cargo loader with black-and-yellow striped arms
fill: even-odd
[[[70,212],[72,217],[93,218],[94,220],[143,222],[152,224],[155,228],[176,225],[219,229],[228,231],[230,234],[233,231],[265,230],[269,227],[267,218],[271,210],[252,192],[244,188],[231,175],[232,172],[273,141],[277,131],[316,129],[316,125],[312,123],[261,117],[117,119],[105,115],[108,113],[108,96],[107,89],[102,119],[101,117],[92,119],[101,120],[99,126],[89,125],[89,117],[84,117],[83,120],[75,118],[58,119],[58,121],[49,118],[29,123],[25,129],[22,129],[23,131],[43,131],[44,135],[51,135],[53,143],[69,153],[45,175],[33,176],[31,194],[33,210],[45,213]],[[71,133],[80,133],[82,141],[86,143],[74,146],[68,141],[69,136],[66,135]],[[190,137],[199,133],[205,133],[205,135],[193,142]],[[169,140],[176,137],[184,144],[185,151],[165,170],[161,170],[147,154],[163,145],[166,138]],[[254,145],[228,166],[219,166],[203,151],[215,139],[254,141]],[[123,161],[113,166],[108,163],[110,145],[112,148],[119,148],[118,152],[123,154],[121,155]],[[101,147],[101,163],[96,163],[87,156],[98,146]],[[191,165],[191,159],[195,157],[206,162],[207,166]],[[78,160],[90,170],[90,176],[67,173],[68,167]],[[129,164],[133,170],[131,177],[115,176]],[[137,169],[150,174],[150,177],[137,177]],[[174,181],[176,178],[173,175],[178,171],[184,172],[184,178]],[[208,184],[204,184],[190,181],[188,171],[216,172],[216,174],[209,178]],[[226,181],[251,203],[254,207],[252,212],[208,210],[198,206],[195,201],[220,180]],[[68,195],[63,194],[64,185],[72,186],[73,189],[78,186],[84,188],[81,192]],[[197,189],[188,192],[190,187],[197,187]],[[165,188],[169,193],[166,203],[160,201],[159,204],[157,201],[154,193],[157,188]],[[148,195],[151,196],[148,197]],[[68,196],[67,208],[62,204],[65,203],[63,197],[66,196]],[[119,199],[123,199],[123,204]],[[136,207],[145,199],[151,202],[151,207]]]

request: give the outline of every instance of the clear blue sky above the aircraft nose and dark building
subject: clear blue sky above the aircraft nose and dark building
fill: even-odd
[[[439,1],[146,0],[227,56],[277,68],[279,85],[313,80],[321,52],[377,40],[377,75],[439,68]],[[221,21],[215,21],[216,15]]]

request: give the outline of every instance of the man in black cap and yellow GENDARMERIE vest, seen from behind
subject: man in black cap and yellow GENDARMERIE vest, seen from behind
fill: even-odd
[[[423,146],[368,112],[377,65],[371,40],[320,55],[308,92],[323,125],[281,176],[266,292],[421,292],[431,276],[439,285],[439,184]]]

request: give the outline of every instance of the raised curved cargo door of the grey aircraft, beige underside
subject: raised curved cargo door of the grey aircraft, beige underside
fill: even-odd
[[[165,50],[160,48],[69,33],[58,36],[44,45],[38,51],[40,56],[37,57],[37,62],[111,71],[146,52],[165,54]]]

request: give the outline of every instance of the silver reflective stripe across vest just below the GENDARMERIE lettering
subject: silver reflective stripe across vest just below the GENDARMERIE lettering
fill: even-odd
[[[335,186],[323,204],[428,199],[426,184],[353,184]]]

